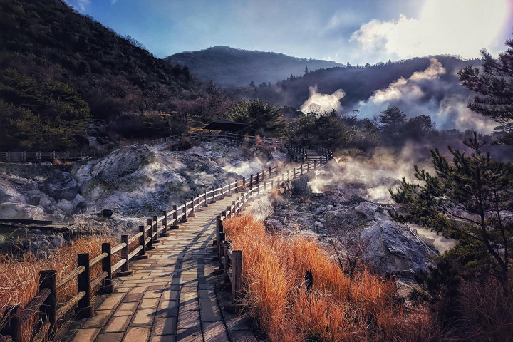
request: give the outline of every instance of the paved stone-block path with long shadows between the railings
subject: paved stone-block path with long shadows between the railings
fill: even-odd
[[[209,204],[161,237],[149,259],[130,262],[132,276],[115,279],[115,293],[98,297],[95,316],[64,333],[72,342],[257,341],[250,326],[221,311],[229,293],[215,289],[215,215],[235,196]],[[221,304],[221,305],[219,305]]]

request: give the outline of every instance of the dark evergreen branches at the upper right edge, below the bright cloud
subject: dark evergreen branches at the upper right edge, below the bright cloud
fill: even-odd
[[[506,133],[502,141],[513,144],[513,40],[506,46],[499,58],[483,49],[481,68],[467,66],[458,76],[463,86],[479,94],[469,108],[501,123],[499,130]]]

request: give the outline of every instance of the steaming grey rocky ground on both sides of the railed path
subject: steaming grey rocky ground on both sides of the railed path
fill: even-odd
[[[252,214],[264,219],[270,232],[301,234],[317,239],[328,252],[358,230],[368,241],[365,263],[412,284],[413,275],[428,271],[430,257],[452,247],[428,229],[390,219],[388,188],[411,174],[408,154],[337,157],[322,170],[297,180],[287,189],[259,202]],[[193,195],[248,177],[286,153],[268,145],[240,146],[228,140],[166,142],[120,147],[107,155],[68,167],[4,165],[0,173],[1,219],[50,219],[72,222],[67,232],[24,229],[1,231],[4,248],[12,244],[45,254],[66,244],[78,232],[119,236],[133,233],[143,217],[161,214]],[[101,217],[111,209],[112,217]],[[23,232],[23,234],[20,234]],[[25,236],[26,235],[26,236]],[[21,237],[21,239],[20,239]]]

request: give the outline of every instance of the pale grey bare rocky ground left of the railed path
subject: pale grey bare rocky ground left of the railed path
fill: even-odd
[[[66,243],[69,235],[134,232],[143,218],[172,204],[284,160],[286,154],[270,145],[218,139],[130,145],[59,167],[0,165],[0,219],[73,224],[56,234],[30,229],[26,237],[19,230],[9,234],[12,226],[4,225],[0,240],[21,236],[31,249],[45,250]],[[103,209],[112,216],[102,217]]]

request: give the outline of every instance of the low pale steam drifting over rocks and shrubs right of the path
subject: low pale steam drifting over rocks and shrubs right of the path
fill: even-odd
[[[336,158],[329,167],[316,172],[309,186],[312,192],[322,192],[329,187],[347,199],[355,193],[373,202],[389,203],[388,189],[398,187],[403,177],[409,182],[415,180],[413,165],[430,169],[427,150],[427,147],[408,142],[398,154],[378,148],[372,157]]]

